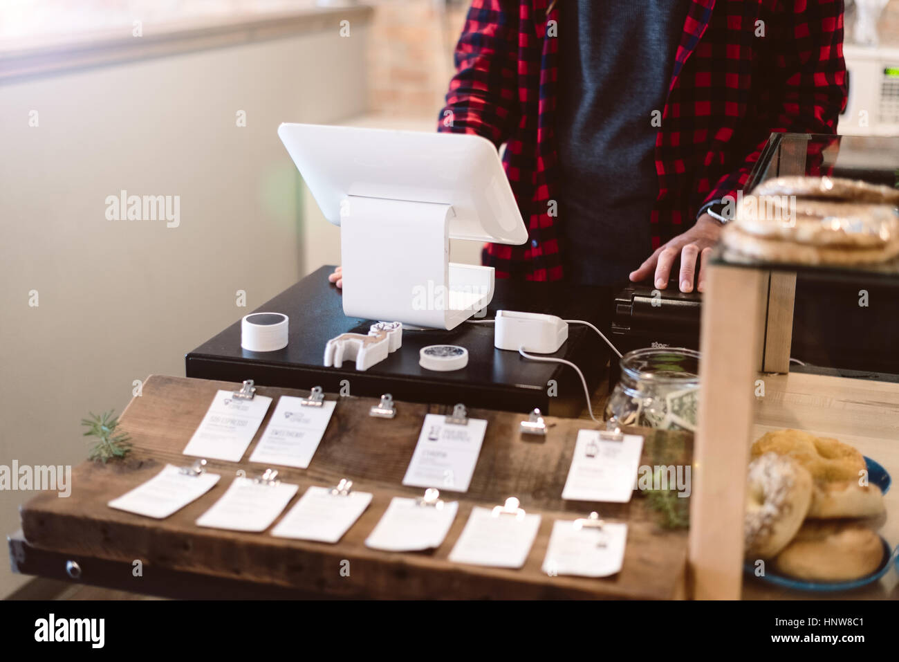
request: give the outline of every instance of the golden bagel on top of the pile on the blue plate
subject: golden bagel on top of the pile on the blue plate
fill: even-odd
[[[854,480],[867,469],[865,457],[848,443],[816,437],[801,430],[778,430],[752,443],[752,457],[766,452],[789,455],[804,466],[815,480]]]

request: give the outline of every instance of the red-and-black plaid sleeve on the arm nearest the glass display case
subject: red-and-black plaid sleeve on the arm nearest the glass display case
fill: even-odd
[[[770,133],[835,134],[846,105],[843,0],[788,0],[779,3],[779,11],[769,17],[767,39],[783,46],[773,49],[766,61],[771,78],[759,111],[767,122],[757,124],[766,130],[751,137],[743,165],[713,186],[707,203],[725,196],[736,198]]]

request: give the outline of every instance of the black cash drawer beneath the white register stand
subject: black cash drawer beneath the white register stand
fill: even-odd
[[[343,315],[341,292],[327,281],[333,267],[322,267],[281,292],[254,312],[280,312],[290,318],[288,346],[277,352],[247,352],[240,346],[240,320],[185,357],[186,374],[208,380],[254,380],[263,386],[340,392],[348,380],[350,395],[379,396],[414,402],[457,402],[527,412],[539,407],[552,416],[576,416],[585,406],[583,386],[570,367],[532,362],[516,352],[494,348],[493,325],[462,324],[452,331],[403,331],[403,346],[387,359],[356,371],[354,363],[325,368],[325,343],[349,331],[367,333],[371,320]],[[486,318],[497,309],[546,312],[565,319],[585,319],[608,331],[612,290],[574,288],[560,283],[496,282]],[[249,312],[249,311],[248,311]],[[387,320],[389,321],[389,320]],[[426,371],[419,350],[428,344],[458,344],[468,350],[467,368],[455,372]],[[572,325],[569,339],[556,354],[574,362],[591,391],[605,375],[610,351],[589,327]],[[550,395],[551,381],[556,395]]]

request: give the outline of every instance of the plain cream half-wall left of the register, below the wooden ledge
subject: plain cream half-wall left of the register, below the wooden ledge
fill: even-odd
[[[298,174],[275,131],[364,112],[366,39],[0,85],[0,464],[85,460],[88,411],[120,412],[147,374],[182,375],[184,353],[305,273]],[[105,219],[121,189],[180,195],[180,227]],[[0,532],[27,498],[0,492]],[[0,562],[0,596],[23,581]]]

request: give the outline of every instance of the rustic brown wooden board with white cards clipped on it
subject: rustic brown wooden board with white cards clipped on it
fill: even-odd
[[[239,468],[256,475],[263,465],[209,461],[222,474],[218,485],[162,521],[113,510],[106,503],[156,475],[170,462],[190,464],[182,455],[217,389],[238,385],[210,380],[151,376],[143,395],[121,417],[135,449],[124,462],[84,462],[73,471],[72,495],[40,493],[22,506],[25,541],[13,539],[13,566],[22,572],[64,577],[67,559],[81,568],[86,584],[153,595],[215,594],[364,598],[676,598],[684,595],[687,534],[667,531],[636,493],[629,504],[563,501],[561,492],[574,452],[577,431],[594,425],[578,419],[547,418],[546,441],[523,441],[518,424],[526,416],[472,408],[469,416],[488,420],[474,477],[458,497],[459,512],[446,540],[432,553],[370,550],[364,540],[391,497],[420,496],[401,485],[425,413],[448,407],[400,402],[393,420],[370,418],[374,398],[340,398],[325,437],[308,470],[278,468],[280,479],[297,483],[298,496],[310,485],[332,486],[349,478],[373,493],[368,510],[336,545],[274,538],[269,533],[202,529],[196,519],[218,500]],[[307,396],[307,390],[259,388],[261,395]],[[256,439],[275,408],[268,416]],[[691,435],[639,429],[645,434],[641,464],[690,464]],[[254,445],[245,453],[249,457]],[[473,505],[496,505],[519,497],[530,513],[543,515],[524,568],[479,568],[447,559]],[[556,519],[574,519],[599,510],[610,521],[628,522],[624,566],[614,577],[547,577],[541,571]],[[16,547],[18,545],[18,547]],[[18,558],[17,554],[19,555]],[[41,559],[49,559],[41,567]],[[57,559],[57,560],[52,560]],[[135,559],[144,577],[130,577]],[[350,577],[341,562],[349,559]],[[49,568],[47,563],[55,563]],[[31,563],[31,565],[29,565]],[[154,574],[156,573],[156,574]],[[148,577],[156,577],[150,581]],[[218,582],[218,585],[217,585]],[[238,587],[242,593],[231,593]],[[237,590],[237,588],[235,588]]]

